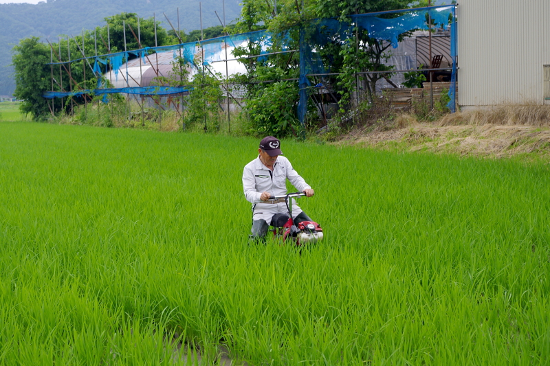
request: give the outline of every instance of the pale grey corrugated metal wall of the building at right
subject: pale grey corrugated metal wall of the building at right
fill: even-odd
[[[459,104],[544,103],[550,0],[461,0]]]

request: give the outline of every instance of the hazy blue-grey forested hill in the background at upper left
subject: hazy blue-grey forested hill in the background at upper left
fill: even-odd
[[[241,12],[240,0],[225,0],[225,19],[229,24]],[[58,36],[80,34],[84,30],[93,30],[105,25],[104,18],[121,12],[135,12],[142,18],[162,21],[166,30],[166,13],[172,24],[177,27],[177,8],[181,30],[190,32],[200,28],[199,2],[202,5],[203,27],[219,25],[214,10],[223,16],[222,0],[48,0],[32,5],[28,3],[0,4],[0,95],[10,95],[15,89],[12,78],[13,69],[9,67],[12,47],[22,38],[37,36],[45,40],[57,41]],[[222,18],[223,20],[223,18]]]

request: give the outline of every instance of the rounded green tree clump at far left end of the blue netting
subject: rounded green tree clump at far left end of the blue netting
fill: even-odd
[[[115,16],[111,16],[106,19],[109,23],[109,34],[111,41],[111,52],[119,52],[124,50],[124,32],[122,27],[122,21],[126,23],[126,49],[138,49],[139,45],[134,38],[130,26],[137,36],[137,16],[133,13],[122,13]],[[153,19],[140,18],[140,35],[142,39],[142,46],[154,46],[155,45],[155,23]],[[96,42],[97,41],[97,42]],[[167,42],[174,41],[174,39],[168,36],[168,33],[164,28],[160,27],[157,21],[157,42],[158,45],[165,45]],[[67,61],[69,55],[69,49],[72,60],[82,58],[83,53],[85,56],[94,56],[96,54],[108,54],[109,49],[107,43],[107,25],[104,27],[98,27],[94,31],[86,31],[83,34],[71,36],[69,41],[63,37],[61,45],[58,43],[52,43],[45,45],[39,41],[37,37],[25,38],[20,41],[19,45],[14,47],[14,55],[12,56],[12,64],[15,69],[16,89],[14,96],[23,100],[21,104],[21,111],[23,113],[31,113],[36,118],[44,115],[45,113],[58,113],[62,109],[68,111],[67,103],[72,100],[70,105],[83,104],[85,99],[90,101],[92,96],[86,95],[84,97],[64,98],[65,106],[61,105],[61,100],[56,99],[55,103],[50,103],[50,106],[42,97],[45,91],[52,90],[52,67],[47,65],[50,63],[50,53],[53,53],[54,62]],[[175,42],[174,42],[175,43]],[[61,46],[61,54],[59,52]],[[131,55],[129,58],[135,58],[137,56]],[[61,74],[60,77],[60,67]],[[59,66],[54,65],[54,91],[78,91],[81,89],[95,89],[98,84],[98,75],[93,71],[94,60],[78,60],[72,62],[69,65]],[[69,78],[68,72],[71,69],[71,77]],[[106,71],[104,65],[100,65],[101,72]],[[58,102],[60,101],[60,102]],[[50,108],[53,108],[50,110]]]

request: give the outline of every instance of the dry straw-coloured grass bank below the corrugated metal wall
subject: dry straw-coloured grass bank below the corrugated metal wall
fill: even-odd
[[[356,128],[337,144],[496,158],[531,154],[550,159],[550,106],[494,106],[445,115],[432,123],[403,114],[391,126]]]

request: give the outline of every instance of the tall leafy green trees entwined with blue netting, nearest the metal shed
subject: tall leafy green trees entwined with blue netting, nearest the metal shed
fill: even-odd
[[[381,12],[386,10],[395,10],[408,8],[409,0],[279,0],[277,1],[277,10],[275,12],[274,3],[265,0],[244,0],[241,17],[236,23],[236,32],[251,32],[254,30],[266,29],[272,35],[272,44],[268,52],[278,52],[283,49],[283,45],[289,49],[300,48],[300,32],[303,32],[303,42],[308,43],[314,53],[321,58],[324,65],[330,65],[331,73],[339,73],[338,76],[325,76],[322,78],[310,77],[312,84],[322,82],[331,85],[340,96],[340,107],[343,109],[351,100],[351,93],[357,87],[357,82],[363,84],[367,91],[369,100],[375,98],[375,85],[378,80],[391,76],[392,67],[384,65],[384,61],[389,58],[389,41],[379,41],[369,37],[369,34],[360,30],[353,24],[351,16],[353,14],[363,14],[367,12]],[[400,14],[386,14],[383,17],[391,18]],[[336,18],[340,22],[349,25],[353,32],[345,37],[333,37],[328,42],[316,44],[314,34],[319,24],[318,19]],[[300,31],[301,30],[301,31]],[[406,36],[408,32],[399,35],[399,40]],[[291,93],[277,94],[279,98],[285,98],[285,102],[280,102],[280,107],[285,108],[285,113],[261,113],[261,106],[270,107],[272,104],[263,103],[260,99],[273,98],[276,91],[282,88],[274,87],[270,82],[283,82],[285,79],[296,79],[300,75],[299,54],[277,54],[269,56],[267,60],[262,58],[250,58],[261,53],[261,45],[264,40],[259,39],[256,42],[249,42],[244,47],[236,49],[236,56],[248,56],[243,60],[248,70],[247,76],[241,76],[239,79],[246,85],[248,91],[248,100],[254,101],[254,113],[251,107],[247,106],[249,117],[252,124],[257,126],[266,126],[272,124],[282,126],[280,118],[294,117],[297,119],[296,106],[298,104],[298,88]],[[303,52],[303,50],[302,50]],[[388,71],[388,73],[367,74],[360,80],[356,78],[356,73],[365,71]],[[272,89],[272,90],[264,90]],[[315,111],[309,100],[308,109]],[[261,117],[260,117],[261,116]],[[308,120],[314,120],[316,114],[309,114]],[[261,119],[261,120],[259,120]],[[270,121],[269,121],[270,120]],[[291,123],[286,129],[279,130],[281,135],[293,133]]]

